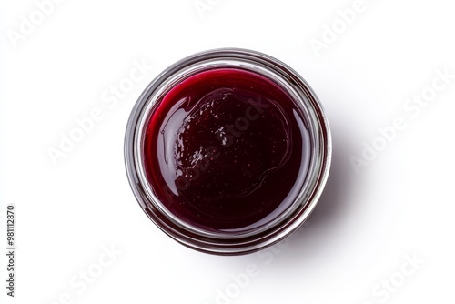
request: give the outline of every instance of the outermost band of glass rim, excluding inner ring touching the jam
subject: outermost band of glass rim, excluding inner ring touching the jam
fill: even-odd
[[[157,89],[157,87],[165,80],[168,76],[175,74],[178,70],[185,68],[186,66],[191,66],[197,62],[208,60],[216,57],[227,58],[249,58],[253,62],[257,60],[264,60],[268,65],[274,66],[275,68],[280,69],[282,72],[288,76],[292,76],[294,85],[298,86],[299,90],[307,91],[305,92],[308,95],[308,99],[313,104],[315,110],[319,112],[318,122],[320,124],[320,143],[323,147],[320,147],[320,152],[323,154],[319,157],[320,164],[319,166],[319,175],[318,180],[315,184],[315,191],[311,194],[311,198],[308,200],[307,206],[304,208],[303,212],[298,213],[294,218],[288,219],[288,225],[284,225],[280,229],[269,231],[269,233],[264,234],[261,238],[255,239],[237,239],[235,242],[226,242],[226,239],[196,239],[188,237],[187,235],[178,233],[175,228],[169,227],[166,221],[163,221],[162,218],[159,218],[157,215],[157,210],[150,210],[157,218],[152,217],[150,214],[147,214],[158,228],[161,228],[164,232],[167,233],[171,238],[175,238],[178,242],[186,245],[187,247],[197,249],[199,251],[204,251],[207,253],[215,253],[221,255],[233,255],[233,254],[244,254],[257,251],[261,248],[266,248],[270,245],[275,244],[282,238],[286,238],[290,233],[296,230],[309,216],[309,214],[316,207],[320,194],[326,184],[327,178],[329,176],[329,167],[331,162],[331,136],[329,129],[329,122],[327,117],[324,114],[323,106],[320,104],[318,97],[308,85],[305,79],[294,71],[291,67],[280,62],[278,59],[268,56],[256,51],[250,51],[246,49],[239,48],[221,48],[208,50],[201,53],[197,53],[193,56],[188,56],[178,61],[176,64],[169,66],[164,70],[160,75],[158,75],[144,90],[141,96],[139,96],[136,105],[134,106],[128,124],[126,127],[126,136],[125,136],[125,164],[126,164],[126,174],[130,182],[130,186],[136,196],[136,199],[139,205],[145,209],[150,208],[147,204],[147,196],[144,194],[144,189],[140,184],[139,177],[137,176],[136,171],[136,162],[135,162],[135,134],[136,134],[136,122],[137,119],[142,114],[143,107],[147,103],[148,98],[152,93]],[[197,237],[197,236],[195,236]],[[230,239],[234,240],[234,239]],[[218,241],[218,242],[217,242]],[[221,241],[221,242],[219,242]]]

